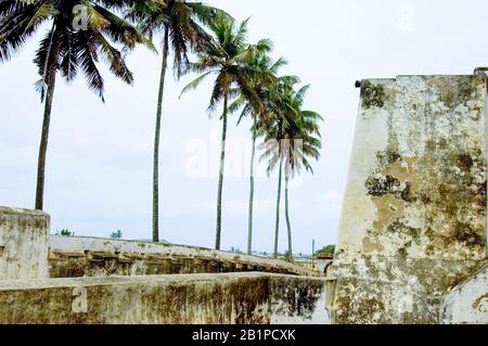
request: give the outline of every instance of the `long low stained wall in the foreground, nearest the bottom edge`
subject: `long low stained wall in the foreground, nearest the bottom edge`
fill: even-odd
[[[264,273],[9,280],[0,323],[328,323],[325,290]]]

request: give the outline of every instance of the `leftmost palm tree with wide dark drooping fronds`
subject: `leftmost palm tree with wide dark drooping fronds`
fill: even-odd
[[[0,62],[11,59],[42,24],[51,23],[34,60],[41,77],[36,87],[41,93],[41,101],[46,99],[36,209],[43,208],[49,125],[57,73],[72,81],[78,71],[82,72],[88,87],[103,101],[104,82],[97,66],[99,59],[106,61],[111,72],[126,84],[131,85],[133,81],[121,53],[110,41],[124,44],[127,49],[133,48],[136,43],[151,47],[130,23],[110,10],[119,10],[127,3],[128,1],[102,0],[0,2]]]

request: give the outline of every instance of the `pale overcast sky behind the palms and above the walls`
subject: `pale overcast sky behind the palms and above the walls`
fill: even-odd
[[[355,80],[409,74],[471,74],[488,64],[488,2],[483,0],[209,0],[237,20],[252,17],[249,40],[271,38],[282,72],[311,84],[306,107],[320,112],[324,148],[291,191],[296,252],[335,243],[357,115]],[[34,206],[42,105],[31,63],[39,36],[0,66],[0,205]],[[152,145],[159,56],[128,57],[128,87],[110,76],[106,103],[82,78],[56,85],[48,151],[46,210],[52,232],[127,239],[151,236]],[[171,77],[171,76],[170,76]],[[213,246],[220,123],[206,113],[210,82],[178,100],[189,78],[167,79],[163,114],[162,238]],[[249,123],[229,127],[222,247],[245,249]],[[256,181],[255,248],[272,251],[277,178]],[[280,249],[286,247],[282,219]]]

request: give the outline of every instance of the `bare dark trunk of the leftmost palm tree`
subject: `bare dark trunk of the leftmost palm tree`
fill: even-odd
[[[51,123],[52,99],[54,95],[54,87],[56,82],[56,74],[53,73],[48,86],[44,103],[44,116],[42,119],[42,133],[39,145],[39,158],[37,162],[37,187],[36,187],[36,209],[42,210],[44,200],[44,180],[46,180],[46,155],[48,153],[49,125]]]

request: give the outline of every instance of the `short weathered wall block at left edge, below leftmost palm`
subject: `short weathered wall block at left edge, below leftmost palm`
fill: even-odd
[[[48,277],[49,222],[41,212],[0,207],[0,280]]]

